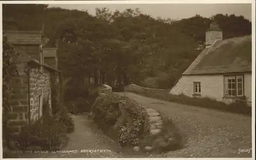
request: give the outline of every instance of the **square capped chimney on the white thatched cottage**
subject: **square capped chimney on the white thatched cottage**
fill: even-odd
[[[205,34],[205,48],[211,47],[217,40],[222,40],[222,30],[217,22],[212,22]]]

